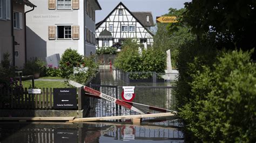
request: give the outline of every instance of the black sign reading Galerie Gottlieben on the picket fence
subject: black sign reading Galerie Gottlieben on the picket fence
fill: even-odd
[[[54,109],[76,109],[77,108],[76,88],[55,88],[53,89]]]

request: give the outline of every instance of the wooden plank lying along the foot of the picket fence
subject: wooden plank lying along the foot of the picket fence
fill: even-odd
[[[0,120],[73,120],[75,117],[0,117]]]

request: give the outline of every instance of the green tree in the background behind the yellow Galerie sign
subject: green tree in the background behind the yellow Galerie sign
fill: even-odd
[[[195,39],[195,35],[190,32],[190,26],[182,23],[182,17],[185,9],[169,9],[169,13],[164,16],[176,16],[179,23],[157,23],[157,33],[154,35],[154,47],[166,52],[171,51],[172,66],[176,68],[177,56],[180,46],[186,41]]]

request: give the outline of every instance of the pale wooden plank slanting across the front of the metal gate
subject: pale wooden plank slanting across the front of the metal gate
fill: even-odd
[[[79,121],[97,121],[97,120],[116,120],[116,119],[133,119],[133,118],[151,118],[151,117],[169,117],[174,116],[173,113],[153,113],[143,115],[126,115],[126,116],[111,116],[111,117],[91,117],[91,118],[76,118],[70,122]]]

